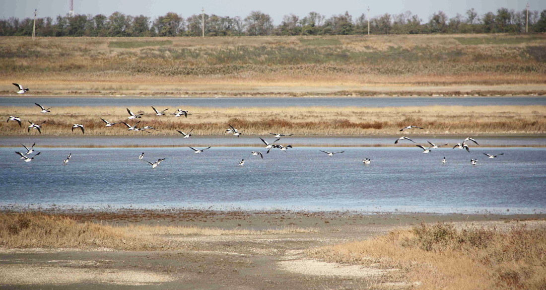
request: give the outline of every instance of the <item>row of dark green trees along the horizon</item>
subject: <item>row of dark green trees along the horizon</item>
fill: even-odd
[[[110,16],[74,15],[57,16],[56,19],[36,19],[36,35],[41,37],[153,37],[200,36],[201,14],[189,17],[169,12],[156,19],[144,15],[131,16],[114,12]],[[204,15],[206,36],[241,35],[350,35],[365,34],[368,20],[365,14],[353,17],[345,14],[326,17],[310,12],[304,17],[284,15],[280,25],[274,25],[270,15],[252,11],[245,18],[239,16]],[[32,35],[33,19],[0,20],[0,35]],[[520,33],[525,32],[526,11],[500,8],[496,13],[478,15],[472,8],[465,15],[449,18],[443,11],[429,17],[428,22],[407,11],[401,14],[385,13],[370,19],[372,34],[418,33]],[[546,10],[529,11],[529,32],[546,32]]]

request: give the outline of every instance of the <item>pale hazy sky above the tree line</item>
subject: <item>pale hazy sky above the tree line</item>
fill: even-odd
[[[442,10],[449,17],[457,13],[462,15],[465,11],[474,8],[479,15],[489,11],[496,11],[505,7],[514,10],[524,10],[527,1],[508,0],[383,0],[383,1],[312,1],[312,0],[74,0],[75,14],[104,14],[110,15],[115,11],[128,15],[140,15],[152,17],[152,20],[167,12],[175,12],[183,17],[201,13],[201,7],[205,13],[221,16],[245,17],[253,10],[260,10],[273,17],[275,24],[282,21],[282,16],[293,13],[305,16],[310,11],[316,11],[327,17],[334,14],[342,14],[345,11],[353,16],[366,12],[370,5],[370,16],[384,13],[399,14],[407,10],[418,14],[423,21],[428,21],[429,16],[435,11]],[[546,9],[546,1],[529,0],[530,10],[542,11]],[[33,17],[34,9],[38,9],[38,17],[56,17],[68,13],[69,0],[0,0],[0,18],[11,16],[25,18]]]

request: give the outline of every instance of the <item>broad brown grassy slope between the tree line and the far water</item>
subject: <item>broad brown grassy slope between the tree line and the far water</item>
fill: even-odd
[[[0,93],[544,94],[546,35],[0,41]]]

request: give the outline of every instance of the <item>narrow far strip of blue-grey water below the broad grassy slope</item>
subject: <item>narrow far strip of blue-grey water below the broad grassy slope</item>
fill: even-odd
[[[246,97],[246,98],[186,98],[186,97],[0,97],[0,106],[209,106],[270,107],[270,106],[387,106],[431,105],[546,105],[545,97]],[[158,108],[159,109],[159,108]]]

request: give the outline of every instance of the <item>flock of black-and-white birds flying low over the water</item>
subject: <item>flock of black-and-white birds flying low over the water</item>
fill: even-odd
[[[22,93],[25,93],[28,91],[28,88],[23,88],[22,85],[19,85],[19,84],[14,84],[15,86],[17,86],[17,88],[19,88],[18,91],[16,91],[17,93],[19,94],[22,94]],[[47,114],[47,113],[51,113],[50,109],[51,108],[45,108],[44,106],[40,105],[40,104],[37,104],[37,103],[34,103],[35,105],[39,106],[40,107],[40,113],[43,113],[43,114]],[[169,110],[169,109],[164,109],[162,111],[159,111],[157,110],[156,108],[154,108],[152,106],[152,109],[153,111],[155,112],[154,115],[156,116],[164,116],[166,115],[166,111]],[[134,114],[133,111],[129,110],[129,108],[127,108],[127,113],[129,114],[129,116],[127,117],[127,119],[129,120],[135,120],[135,119],[138,119],[138,118],[141,118],[144,113],[141,113],[141,114]],[[174,115],[174,117],[181,117],[181,116],[184,116],[184,117],[188,117],[188,116],[191,116],[192,114],[189,114],[189,112],[187,110],[181,110],[181,109],[177,109],[176,111],[174,111],[174,113],[169,113],[169,115]],[[102,117],[100,117],[100,120],[102,120],[106,125],[106,127],[112,127],[116,124],[120,124],[120,123],[123,123],[123,125],[125,125],[127,127],[127,130],[128,131],[134,131],[134,132],[138,132],[138,131],[143,131],[143,132],[147,132],[147,133],[150,133],[150,131],[147,131],[147,130],[155,130],[155,131],[159,131],[157,130],[156,128],[153,128],[153,127],[150,127],[150,126],[145,126],[145,127],[137,127],[137,125],[140,123],[140,121],[134,123],[133,125],[129,125],[128,123],[126,122],[123,122],[123,121],[120,121],[120,122],[115,122],[115,123],[111,123],[105,119],[103,119]],[[16,121],[17,123],[19,123],[19,126],[22,127],[22,123],[21,123],[21,119],[19,116],[9,116],[8,117],[8,120],[6,122],[9,122],[9,121]],[[27,132],[30,132],[31,129],[36,129],[40,134],[41,134],[41,128],[42,128],[42,125],[45,123],[45,121],[41,122],[41,123],[34,123],[32,121],[29,121],[28,122],[30,123],[30,125],[27,127]],[[81,133],[82,134],[85,134],[85,127],[83,124],[74,124],[72,126],[72,132],[74,132],[74,129],[81,129]],[[404,130],[408,130],[408,129],[423,129],[422,127],[418,127],[418,126],[407,126],[407,127],[404,127],[402,129],[400,129],[399,131],[402,132]],[[188,132],[188,133],[185,133],[185,132],[182,132],[182,131],[179,131],[179,130],[176,130],[178,133],[180,133],[181,135],[183,135],[182,139],[186,139],[186,138],[189,138],[192,136],[192,131],[193,131],[193,128]],[[224,132],[224,135],[225,134],[233,134],[234,136],[237,136],[239,137],[244,131],[239,131],[238,129],[234,128],[232,125],[229,125],[229,128],[227,128]],[[277,138],[275,141],[272,141],[271,143],[268,143],[268,141],[265,141],[263,138],[259,137],[260,140],[262,140],[262,142],[265,144],[265,149],[267,149],[268,151],[266,151],[266,154],[269,153],[271,150],[273,149],[279,149],[280,151],[284,151],[286,152],[288,148],[292,148],[292,145],[286,145],[286,146],[283,146],[283,145],[279,145],[279,144],[275,144],[277,141],[281,140],[282,137],[286,137],[286,136],[292,136],[293,134],[282,134],[282,133],[269,133],[271,135],[274,135],[275,138]],[[413,141],[412,139],[406,137],[406,136],[402,136],[398,139],[396,139],[394,141],[394,144],[398,144],[400,141],[404,141],[404,140],[408,140],[408,141],[411,141],[413,143],[416,143],[415,141]],[[468,141],[472,141],[473,143],[476,143],[476,145],[479,146],[478,142],[472,138],[472,137],[468,137],[466,138],[465,140],[462,141],[462,143],[457,143],[455,146],[453,146],[452,149],[465,149],[467,152],[470,152],[470,147],[468,146],[467,142]],[[430,141],[427,141],[430,146],[429,147],[425,147],[423,145],[419,145],[417,144],[416,146],[419,147],[420,149],[422,149],[422,153],[429,153],[431,152],[432,149],[437,149],[437,148],[440,148],[441,146],[447,146],[448,144],[434,144],[434,143],[431,143]],[[20,156],[20,159],[24,159],[25,162],[31,162],[32,159],[34,159],[34,157],[40,155],[40,152],[36,153],[35,155],[33,155],[32,157],[30,156],[33,152],[34,152],[34,146],[36,145],[36,143],[32,144],[32,146],[30,148],[28,148],[27,146],[21,144],[23,147],[25,147],[25,150],[26,152],[25,153],[22,153],[22,152],[15,152],[17,155]],[[193,147],[190,147],[188,146],[190,149],[193,150],[194,153],[202,153],[204,152],[205,150],[207,149],[210,149],[211,146],[209,147],[206,147],[204,149],[195,149]],[[338,154],[338,153],[343,153],[345,151],[339,151],[339,152],[328,152],[328,151],[323,151],[323,150],[319,150],[325,154],[327,154],[327,156],[334,156],[335,154]],[[488,153],[483,153],[484,155],[488,156],[488,158],[497,158],[498,156],[500,155],[504,155],[504,153],[498,153],[497,155],[490,155]],[[264,158],[264,155],[262,152],[259,152],[259,151],[252,151],[250,153],[250,155],[248,155],[247,158],[250,158],[251,156],[260,156],[262,159]],[[70,153],[68,155],[68,157],[66,159],[64,159],[63,161],[63,165],[66,165],[68,164],[68,161],[70,160],[70,157],[72,157],[72,153]],[[144,152],[138,157],[139,160],[143,160],[144,158]],[[149,161],[145,161],[147,163],[149,163],[150,165],[152,165],[152,168],[156,168],[159,163],[161,163],[162,161],[164,161],[165,158],[159,158],[156,162],[149,162]],[[371,159],[367,158],[366,159],[363,159],[363,164],[365,165],[369,165],[371,164]],[[446,157],[443,157],[442,159],[442,163],[443,164],[446,164],[447,163],[447,160],[446,160]],[[470,159],[470,163],[472,165],[476,165],[478,163],[478,159]],[[240,166],[243,166],[245,164],[245,159],[242,159],[240,162],[239,162],[239,165]]]

